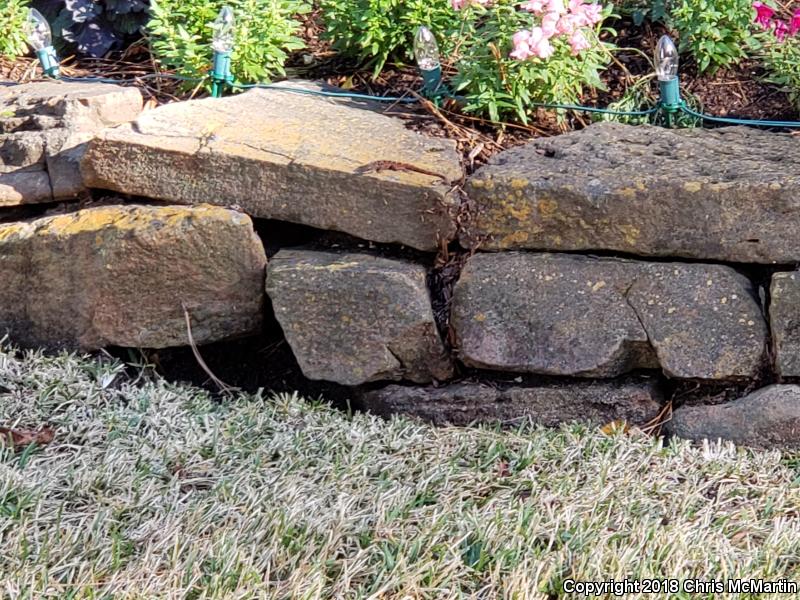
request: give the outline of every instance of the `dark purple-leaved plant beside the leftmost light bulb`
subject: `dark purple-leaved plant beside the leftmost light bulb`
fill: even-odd
[[[34,0],[50,21],[59,46],[104,56],[137,35],[147,22],[148,0]]]

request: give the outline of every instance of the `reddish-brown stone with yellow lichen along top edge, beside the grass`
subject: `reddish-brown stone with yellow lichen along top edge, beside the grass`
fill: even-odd
[[[101,206],[0,224],[0,337],[48,348],[161,348],[258,331],[266,257],[218,207]]]

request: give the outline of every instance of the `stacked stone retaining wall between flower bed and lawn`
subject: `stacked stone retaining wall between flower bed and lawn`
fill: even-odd
[[[604,123],[462,186],[453,142],[356,102],[255,90],[136,117],[130,89],[47,83],[0,103],[0,206],[76,198],[0,211],[16,344],[163,348],[187,316],[197,343],[277,319],[306,377],[383,414],[643,425],[676,388],[762,387],[681,393],[667,427],[800,446],[800,387],[769,385],[800,376],[790,136]],[[275,252],[254,219],[344,235]]]

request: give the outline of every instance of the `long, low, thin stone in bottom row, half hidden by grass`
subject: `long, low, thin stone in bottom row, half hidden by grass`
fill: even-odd
[[[506,389],[480,383],[442,388],[390,385],[366,391],[360,400],[379,415],[411,414],[437,425],[531,419],[552,427],[571,421],[603,425],[624,420],[642,425],[658,415],[663,397],[655,380],[642,379]]]

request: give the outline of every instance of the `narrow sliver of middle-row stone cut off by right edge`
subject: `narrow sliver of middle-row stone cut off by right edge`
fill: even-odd
[[[769,321],[775,368],[800,376],[800,273],[775,273],[770,286]]]

